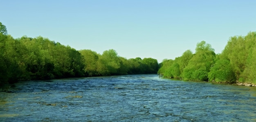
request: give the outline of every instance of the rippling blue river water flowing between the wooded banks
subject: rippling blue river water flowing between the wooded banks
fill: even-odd
[[[156,74],[16,83],[0,92],[1,122],[256,121],[256,87]]]

